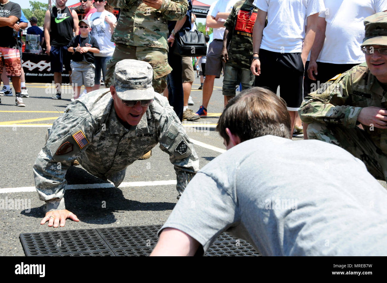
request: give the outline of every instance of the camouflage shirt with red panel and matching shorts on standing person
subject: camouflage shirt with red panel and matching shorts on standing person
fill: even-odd
[[[250,70],[253,53],[253,26],[258,8],[253,0],[236,2],[224,26],[232,36],[228,46],[228,61],[224,69],[223,95],[235,95],[235,85],[242,83],[242,89],[253,86],[255,76]]]

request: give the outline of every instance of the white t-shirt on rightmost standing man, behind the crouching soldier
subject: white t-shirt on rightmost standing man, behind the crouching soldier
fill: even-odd
[[[364,38],[364,18],[387,10],[387,0],[324,0],[325,43],[319,62],[357,64],[365,61],[360,45]]]

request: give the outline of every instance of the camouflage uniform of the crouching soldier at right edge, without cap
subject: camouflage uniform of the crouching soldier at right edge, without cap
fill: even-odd
[[[385,87],[366,63],[329,80],[305,97],[298,110],[308,125],[308,138],[336,144],[361,159],[377,179],[387,180],[387,130],[356,127],[363,107],[387,108]]]

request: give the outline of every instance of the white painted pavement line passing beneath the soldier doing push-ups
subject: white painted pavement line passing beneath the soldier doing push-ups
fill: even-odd
[[[163,186],[176,185],[176,180],[166,181],[139,181],[139,182],[123,182],[118,188],[139,187],[139,186]],[[97,189],[97,188],[115,188],[111,183],[97,184],[82,184],[82,185],[67,185],[66,190],[82,190],[82,189]],[[0,188],[0,193],[20,193],[36,191],[35,187],[20,187],[20,188]]]

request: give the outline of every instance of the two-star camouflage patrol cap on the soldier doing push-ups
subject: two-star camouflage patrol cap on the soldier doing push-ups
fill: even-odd
[[[125,59],[116,64],[114,85],[122,100],[147,100],[154,98],[152,87],[153,69],[151,64]]]

